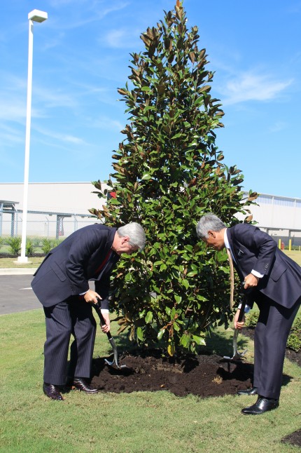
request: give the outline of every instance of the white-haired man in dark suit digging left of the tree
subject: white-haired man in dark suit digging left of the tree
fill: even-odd
[[[34,273],[31,286],[45,312],[43,391],[52,400],[63,400],[65,384],[86,393],[97,393],[90,378],[96,322],[92,303],[101,299],[102,314],[109,332],[110,276],[120,255],[142,250],[145,233],[132,222],[118,229],[93,224],[78,229],[51,250]],[[89,280],[95,280],[95,291]],[[70,363],[67,371],[69,341]]]

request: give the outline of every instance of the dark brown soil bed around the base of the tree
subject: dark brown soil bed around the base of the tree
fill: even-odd
[[[124,354],[114,370],[104,358],[94,359],[92,385],[106,392],[170,391],[177,396],[235,395],[251,386],[253,365],[226,363],[220,356],[170,358],[160,350]]]

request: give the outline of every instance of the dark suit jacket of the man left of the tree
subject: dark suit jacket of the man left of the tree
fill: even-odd
[[[56,305],[89,290],[88,280],[97,280],[102,308],[109,308],[111,269],[119,256],[111,252],[116,228],[101,224],[75,231],[51,250],[34,273],[32,289],[43,306]],[[108,254],[109,260],[100,270]]]

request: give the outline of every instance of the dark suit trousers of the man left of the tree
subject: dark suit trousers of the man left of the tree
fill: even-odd
[[[92,306],[78,297],[44,307],[46,341],[44,344],[44,382],[65,385],[67,377],[90,378],[96,334]],[[74,337],[68,352],[71,334]]]

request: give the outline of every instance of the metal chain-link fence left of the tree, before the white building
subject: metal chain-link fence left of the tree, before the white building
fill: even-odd
[[[18,255],[22,234],[22,210],[0,210],[0,255]],[[43,255],[51,245],[69,236],[73,231],[99,222],[89,214],[68,212],[28,211],[27,246],[30,255]],[[48,244],[48,245],[47,245]]]

